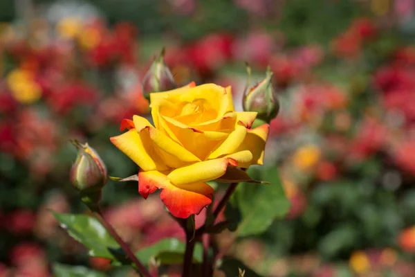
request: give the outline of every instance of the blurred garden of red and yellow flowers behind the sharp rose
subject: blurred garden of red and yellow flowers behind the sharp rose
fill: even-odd
[[[178,84],[232,85],[238,109],[244,62],[258,81],[274,72],[261,170],[279,170],[291,210],[230,255],[261,276],[415,276],[414,13],[414,0],[1,0],[0,276],[52,276],[54,262],[133,276],[89,258],[50,210],[86,211],[69,139],[111,176],[136,173],[109,137],[148,112],[140,79],[163,46]],[[184,239],[136,184],[109,181],[102,204],[135,249]]]

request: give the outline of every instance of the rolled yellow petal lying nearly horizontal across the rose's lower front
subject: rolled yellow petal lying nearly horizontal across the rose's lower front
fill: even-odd
[[[225,174],[230,160],[227,158],[201,161],[190,166],[177,168],[167,175],[174,185],[212,181]]]

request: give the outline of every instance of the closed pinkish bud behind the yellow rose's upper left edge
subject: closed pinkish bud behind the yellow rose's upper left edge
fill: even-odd
[[[164,61],[165,49],[160,53],[151,64],[149,71],[142,79],[142,95],[149,99],[151,92],[169,91],[176,89],[176,82],[172,72],[169,70]]]

